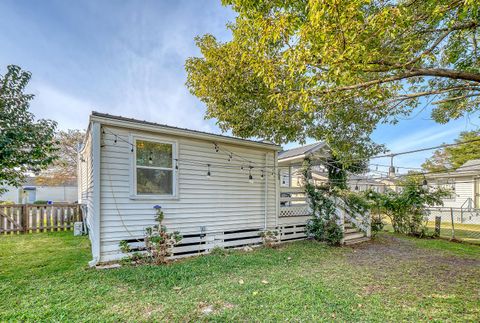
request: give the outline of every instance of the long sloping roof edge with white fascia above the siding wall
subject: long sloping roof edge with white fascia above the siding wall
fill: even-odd
[[[92,111],[92,115],[90,119],[97,120],[102,124],[112,124],[112,125],[123,126],[123,127],[129,126],[132,128],[138,128],[138,126],[147,126],[149,128],[147,130],[151,130],[151,131],[159,131],[163,133],[171,133],[176,135],[184,135],[189,137],[197,137],[197,138],[210,139],[210,140],[236,142],[239,144],[250,145],[250,146],[251,145],[262,146],[264,148],[269,148],[273,150],[281,149],[279,145],[276,145],[269,141],[262,141],[262,140],[257,141],[257,140],[243,139],[243,138],[238,138],[233,136],[219,135],[219,134],[214,134],[214,133],[209,133],[209,132],[204,132],[199,130],[169,126],[166,124],[160,124],[160,123],[151,122],[151,121],[127,118],[123,116],[116,116],[116,115],[111,115],[108,113],[101,113],[96,111]]]

